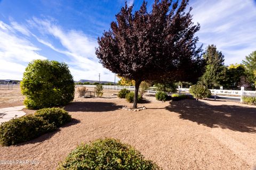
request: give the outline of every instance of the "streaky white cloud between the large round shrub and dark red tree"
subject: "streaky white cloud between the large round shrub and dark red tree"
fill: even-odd
[[[66,63],[69,64],[75,80],[98,80],[98,74],[100,73],[102,75],[101,80],[114,81],[114,74],[104,69],[95,55],[95,47],[98,46],[96,39],[90,38],[82,31],[63,30],[49,20],[33,18],[28,22],[41,31],[43,35],[51,35],[61,43],[65,50],[58,49],[49,41],[34,35],[40,43],[69,57],[70,61]]]

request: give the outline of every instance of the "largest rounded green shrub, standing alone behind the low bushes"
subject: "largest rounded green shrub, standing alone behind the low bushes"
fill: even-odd
[[[23,73],[21,92],[30,109],[66,105],[74,99],[75,84],[65,63],[49,60],[30,62]]]

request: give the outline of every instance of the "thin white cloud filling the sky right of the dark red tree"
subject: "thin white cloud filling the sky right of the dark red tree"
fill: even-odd
[[[195,0],[194,22],[201,24],[197,33],[204,48],[214,44],[225,55],[225,64],[240,63],[256,50],[256,5],[253,0]]]

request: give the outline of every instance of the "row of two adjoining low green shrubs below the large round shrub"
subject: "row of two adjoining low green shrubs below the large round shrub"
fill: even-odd
[[[3,146],[15,145],[52,132],[71,121],[68,112],[61,108],[44,108],[35,115],[14,118],[0,125],[0,143]]]

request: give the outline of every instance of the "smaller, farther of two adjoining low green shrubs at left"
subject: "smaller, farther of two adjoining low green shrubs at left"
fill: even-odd
[[[62,108],[43,108],[36,111],[35,116],[42,117],[45,121],[57,127],[71,121],[71,116]]]

